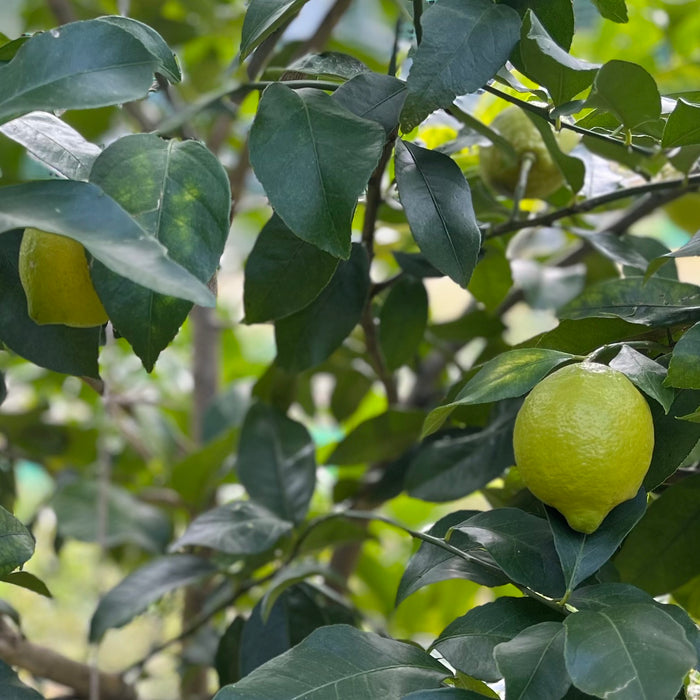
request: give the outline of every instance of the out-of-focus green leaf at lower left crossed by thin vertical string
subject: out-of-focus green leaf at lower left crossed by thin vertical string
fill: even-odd
[[[61,537],[97,542],[98,509],[102,486],[96,481],[68,481],[58,487],[51,507],[58,520]],[[169,518],[158,508],[135,498],[117,484],[106,489],[107,523],[104,544],[117,547],[135,544],[147,552],[162,552],[172,536]]]

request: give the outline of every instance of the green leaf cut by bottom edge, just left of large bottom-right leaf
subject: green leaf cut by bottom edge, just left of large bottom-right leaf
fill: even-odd
[[[571,685],[561,622],[540,622],[493,650],[508,697],[560,700]]]

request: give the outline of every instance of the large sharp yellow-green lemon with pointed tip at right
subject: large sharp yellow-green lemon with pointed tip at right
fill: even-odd
[[[543,379],[515,420],[513,449],[525,485],[580,532],[593,532],[637,494],[653,448],[644,397],[622,372],[595,362]]]

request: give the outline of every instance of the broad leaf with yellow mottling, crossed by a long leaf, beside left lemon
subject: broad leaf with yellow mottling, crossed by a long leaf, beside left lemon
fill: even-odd
[[[97,158],[90,180],[172,260],[204,284],[211,279],[228,237],[231,191],[226,172],[203,144],[125,136]],[[125,282],[104,265],[93,265],[91,275],[114,327],[150,371],[192,304]]]

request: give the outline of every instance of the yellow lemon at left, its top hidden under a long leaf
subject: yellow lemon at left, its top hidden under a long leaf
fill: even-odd
[[[25,229],[19,277],[35,323],[87,328],[108,320],[90,279],[85,249],[72,238]]]

